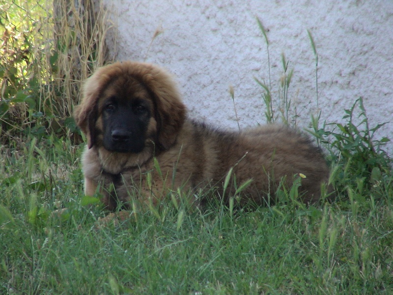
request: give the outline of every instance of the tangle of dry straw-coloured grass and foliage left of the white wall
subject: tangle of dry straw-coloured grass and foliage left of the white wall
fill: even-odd
[[[6,11],[0,14],[3,143],[21,140],[24,130],[69,133],[67,118],[79,102],[82,82],[110,61],[105,38],[112,25],[101,1],[75,2],[1,4]]]

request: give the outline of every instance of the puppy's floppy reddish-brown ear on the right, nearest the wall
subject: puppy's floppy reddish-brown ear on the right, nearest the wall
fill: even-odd
[[[186,107],[167,71],[147,63],[134,63],[133,66],[140,67],[140,78],[154,96],[158,143],[168,149],[175,143],[184,124]]]

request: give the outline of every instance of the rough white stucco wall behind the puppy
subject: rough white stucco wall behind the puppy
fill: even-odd
[[[342,121],[360,96],[371,127],[390,121],[378,136],[393,140],[392,0],[103,0],[112,16],[108,45],[117,60],[160,64],[179,83],[192,118],[237,128],[264,123],[262,89],[268,81],[268,31],[272,88],[278,96],[281,53],[294,75],[289,88],[300,126],[316,111],[315,59],[322,119]],[[162,33],[153,41],[155,31]],[[389,146],[392,153],[393,144]]]

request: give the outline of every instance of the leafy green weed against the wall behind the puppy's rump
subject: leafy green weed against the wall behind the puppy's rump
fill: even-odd
[[[376,187],[382,178],[389,176],[392,171],[392,160],[383,149],[390,139],[374,138],[375,132],[386,123],[370,128],[363,98],[357,99],[353,106],[344,112],[344,124],[327,123],[319,128],[318,119],[313,118],[311,133],[330,151],[338,191],[347,191],[350,188],[365,193]]]

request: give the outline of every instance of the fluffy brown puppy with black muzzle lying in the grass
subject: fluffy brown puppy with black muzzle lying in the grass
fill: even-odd
[[[207,195],[227,201],[231,190],[223,196],[223,182],[231,168],[230,183],[252,179],[241,203],[274,202],[280,181],[290,187],[299,174],[306,176],[300,191],[309,203],[320,198],[329,176],[320,150],[297,130],[266,125],[227,132],[188,119],[171,76],[152,64],[117,62],[98,69],[84,85],[75,119],[87,138],[85,194],[99,191],[111,210],[129,208],[131,196],[142,205],[158,204],[179,187],[191,192],[187,196],[215,187]]]

